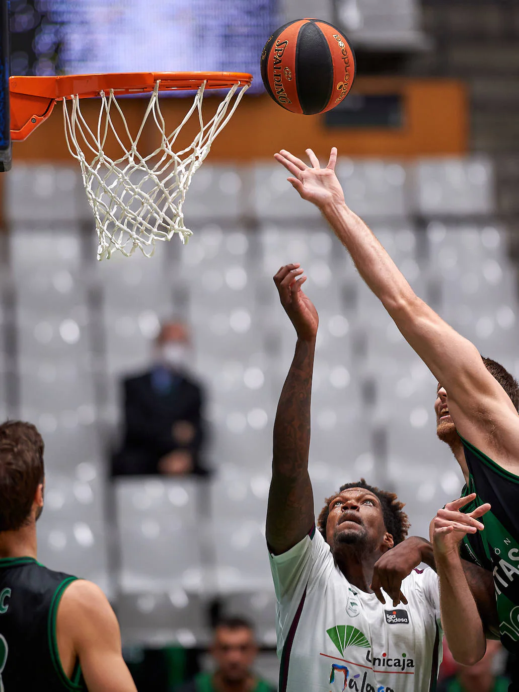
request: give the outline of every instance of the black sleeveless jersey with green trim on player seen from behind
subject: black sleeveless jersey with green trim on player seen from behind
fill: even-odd
[[[66,677],[56,641],[57,607],[75,579],[34,558],[0,558],[0,691],[86,690],[79,664]]]

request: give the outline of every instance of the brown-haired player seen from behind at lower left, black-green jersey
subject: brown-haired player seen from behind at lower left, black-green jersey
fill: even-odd
[[[0,425],[0,690],[136,692],[107,597],[37,561],[43,455],[35,426]]]

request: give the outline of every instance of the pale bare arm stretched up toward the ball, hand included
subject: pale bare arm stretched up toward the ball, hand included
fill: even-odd
[[[358,272],[381,300],[395,324],[448,394],[450,414],[460,435],[495,455],[509,471],[519,472],[519,417],[501,385],[484,367],[475,346],[457,334],[415,295],[371,230],[345,203],[335,174],[337,149],[327,167],[307,149],[311,166],[284,149],[275,154],[291,173],[289,182],[313,202],[349,251]],[[495,428],[499,436],[489,434]]]

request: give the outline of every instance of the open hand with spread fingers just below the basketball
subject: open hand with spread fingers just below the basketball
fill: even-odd
[[[336,147],[331,148],[325,168],[320,167],[319,159],[311,149],[307,149],[307,154],[311,163],[309,166],[286,149],[281,149],[279,154],[274,154],[274,158],[291,173],[288,181],[303,199],[307,199],[320,209],[333,203],[344,204],[343,188],[335,174]]]

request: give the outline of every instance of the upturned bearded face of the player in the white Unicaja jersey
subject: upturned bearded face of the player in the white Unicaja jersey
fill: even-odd
[[[327,543],[332,552],[340,544],[363,547],[365,552],[375,551],[385,544],[387,533],[379,498],[364,488],[349,488],[336,495],[329,503],[326,524]],[[385,549],[392,547],[387,543]]]

